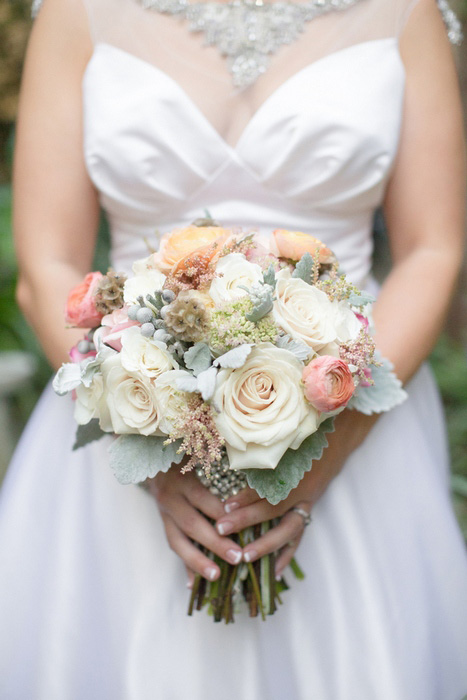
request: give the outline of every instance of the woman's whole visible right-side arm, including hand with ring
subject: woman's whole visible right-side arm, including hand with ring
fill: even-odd
[[[442,327],[462,263],[464,141],[457,76],[435,0],[419,0],[401,40],[407,72],[399,155],[387,189],[385,214],[394,266],[374,306],[376,341],[406,382],[429,354]],[[250,559],[283,547],[279,573],[289,563],[303,520],[287,512],[309,511],[365,439],[377,417],[346,411],[323,458],[290,496],[273,507],[244,491],[230,499],[217,521],[228,534],[282,514],[281,524],[246,547]]]

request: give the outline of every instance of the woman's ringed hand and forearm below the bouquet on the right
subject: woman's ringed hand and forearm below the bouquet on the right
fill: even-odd
[[[224,504],[225,515],[216,521],[220,535],[257,525],[266,520],[280,518],[280,523],[267,533],[249,543],[243,550],[246,562],[252,562],[271,552],[280,552],[276,561],[276,576],[280,576],[292,560],[305,530],[305,518],[294,508],[310,513],[313,505],[326,490],[332,479],[341,471],[345,460],[365,438],[375,417],[367,417],[345,411],[336,418],[336,431],[329,437],[329,447],[313,468],[305,474],[289,496],[273,506],[259,498],[254,489],[244,489]]]

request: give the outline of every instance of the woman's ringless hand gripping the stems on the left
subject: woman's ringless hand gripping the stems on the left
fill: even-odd
[[[195,474],[182,474],[180,465],[173,465],[167,473],[160,472],[146,484],[159,506],[169,546],[187,567],[188,585],[193,582],[193,572],[208,581],[214,581],[220,575],[217,564],[195,543],[207,547],[229,564],[241,561],[240,545],[228,537],[221,537],[208,520],[217,520],[224,515],[221,501],[200,483]]]

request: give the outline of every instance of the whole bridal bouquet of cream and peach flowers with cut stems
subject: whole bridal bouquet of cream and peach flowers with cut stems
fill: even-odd
[[[261,240],[210,219],[166,233],[132,276],[91,272],[69,295],[67,323],[90,329],[54,379],[75,399],[74,448],[111,433],[122,484],[178,464],[220,498],[248,485],[277,504],[321,457],[333,416],[405,399],[375,350],[372,301],[305,233]],[[234,537],[244,546],[274,525]],[[221,576],[196,578],[190,614],[275,611],[287,584],[274,554],[234,566],[203,551]]]

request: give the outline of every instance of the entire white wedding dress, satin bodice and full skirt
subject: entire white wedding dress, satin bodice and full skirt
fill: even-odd
[[[186,23],[87,0],[84,154],[115,268],[207,208],[227,226],[314,234],[371,284],[413,4],[361,0],[317,18],[239,91]],[[187,616],[155,502],[117,483],[106,439],[71,451],[72,402],[49,387],[1,496],[2,700],[461,700],[467,559],[426,367],[408,391],[313,508],[305,581],[288,576],[266,623],[227,627]]]

